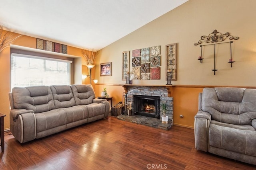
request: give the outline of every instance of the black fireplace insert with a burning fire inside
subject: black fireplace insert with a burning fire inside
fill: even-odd
[[[134,114],[160,119],[160,97],[133,95]]]

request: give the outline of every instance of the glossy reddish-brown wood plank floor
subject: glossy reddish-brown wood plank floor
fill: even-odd
[[[5,136],[3,170],[250,170],[256,166],[194,149],[194,130],[169,131],[108,117],[20,144]]]

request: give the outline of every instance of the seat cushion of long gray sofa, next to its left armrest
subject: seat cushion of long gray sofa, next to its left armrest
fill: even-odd
[[[36,113],[35,116],[37,133],[61,125],[66,125],[67,123],[66,111],[62,109],[53,109],[42,113]]]

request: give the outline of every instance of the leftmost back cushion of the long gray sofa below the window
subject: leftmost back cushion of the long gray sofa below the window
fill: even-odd
[[[54,101],[49,86],[30,86],[12,88],[14,107],[30,109],[41,113],[54,109]]]

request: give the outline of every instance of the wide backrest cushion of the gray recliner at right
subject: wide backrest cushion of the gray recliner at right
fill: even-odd
[[[250,125],[256,118],[256,89],[204,88],[202,110],[216,121]]]

